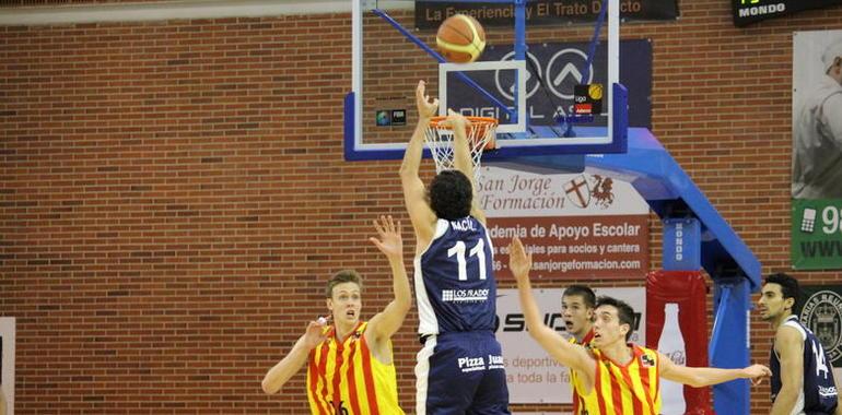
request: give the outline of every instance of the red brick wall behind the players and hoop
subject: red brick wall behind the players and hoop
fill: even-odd
[[[653,42],[654,133],[763,272],[787,270],[792,32],[838,28],[842,9],[735,28],[728,1],[679,5],[678,21],[622,29]],[[304,377],[265,396],[265,371],[324,311],[334,271],[360,270],[365,309],[382,308],[370,223],[409,229],[398,162],[342,158],[349,88],[348,14],[0,27],[16,413],[306,413]],[[395,342],[408,410],[416,323]],[[765,361],[771,331],[752,324]],[[768,387],[751,399],[765,411]]]

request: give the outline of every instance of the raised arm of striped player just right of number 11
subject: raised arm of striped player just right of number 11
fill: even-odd
[[[589,379],[594,379],[595,360],[588,355],[587,351],[580,345],[569,343],[556,330],[545,325],[543,320],[541,320],[541,311],[535,301],[531,284],[529,283],[529,270],[531,270],[533,265],[531,253],[526,254],[519,238],[512,240],[512,244],[508,246],[508,268],[517,281],[521,309],[524,312],[529,335],[556,361],[584,374]]]

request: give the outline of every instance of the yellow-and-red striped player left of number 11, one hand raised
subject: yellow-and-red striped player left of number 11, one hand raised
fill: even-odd
[[[361,319],[362,278],[336,273],[325,292],[331,320],[311,321],[290,353],[264,378],[264,392],[281,390],[307,364],[307,400],[314,415],[402,415],[398,404],[391,335],[412,304],[404,264],[400,224],[391,216],[374,222],[371,241],[388,258],[395,298],[370,321]]]

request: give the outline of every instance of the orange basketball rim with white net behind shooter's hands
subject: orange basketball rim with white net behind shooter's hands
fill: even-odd
[[[480,159],[486,150],[496,149],[498,120],[489,117],[465,117],[470,121],[466,134],[473,163],[473,179],[479,182]],[[435,173],[454,169],[453,129],[444,121],[447,117],[433,117],[424,132],[424,141],[435,161]]]

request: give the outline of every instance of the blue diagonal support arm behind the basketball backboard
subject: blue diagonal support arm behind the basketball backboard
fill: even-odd
[[[751,290],[760,288],[760,262],[655,137],[643,128],[629,129],[627,154],[589,155],[589,168],[620,173],[660,217],[681,210],[702,225],[702,266],[714,278],[745,275]]]

